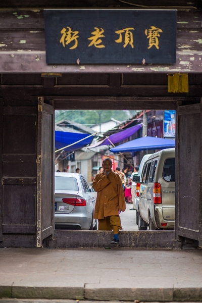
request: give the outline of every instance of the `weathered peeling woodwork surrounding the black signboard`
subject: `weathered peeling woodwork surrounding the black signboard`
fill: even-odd
[[[22,2],[23,3],[23,2]],[[56,4],[44,7],[56,7]],[[137,8],[124,5],[119,1],[111,1],[111,5],[117,5],[117,8]],[[58,4],[59,5],[59,4]],[[142,5],[142,4],[141,4]],[[145,1],[144,5],[151,6],[152,4]],[[156,9],[162,9],[158,7]],[[44,19],[43,10],[40,6],[33,5],[36,9],[1,9],[0,6],[0,72],[60,72],[63,73],[200,73],[201,72],[201,4],[199,2],[193,5],[187,5],[182,1],[176,2],[175,5],[171,2],[166,2],[165,8],[178,9],[177,21],[177,62],[174,65],[63,65],[53,66],[45,63],[45,39],[44,39]],[[174,7],[169,7],[174,5]],[[195,7],[194,7],[195,5]],[[30,4],[29,4],[30,6]],[[78,2],[68,3],[68,6],[61,1],[61,7],[78,8],[78,7],[107,7],[112,8],[110,4],[104,1]],[[181,6],[181,8],[179,7]],[[184,7],[185,6],[185,7]],[[9,7],[9,6],[8,6]],[[7,8],[8,8],[7,7]],[[26,6],[24,6],[26,7]],[[148,7],[145,7],[148,8]],[[197,9],[196,9],[197,8]],[[142,58],[143,59],[143,58]]]

